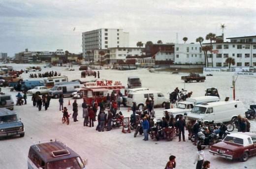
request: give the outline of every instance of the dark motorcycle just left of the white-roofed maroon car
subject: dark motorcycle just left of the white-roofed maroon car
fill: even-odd
[[[197,133],[197,135],[197,145],[201,145],[202,149],[204,149],[206,146],[210,147],[218,141],[217,135],[211,131],[208,133],[202,129]]]

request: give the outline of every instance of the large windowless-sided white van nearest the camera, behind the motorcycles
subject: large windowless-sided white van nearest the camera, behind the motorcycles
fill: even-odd
[[[188,113],[189,119],[201,119],[203,121],[213,121],[223,123],[234,121],[239,114],[245,113],[245,107],[241,101],[220,101],[212,103],[203,103],[194,106]]]

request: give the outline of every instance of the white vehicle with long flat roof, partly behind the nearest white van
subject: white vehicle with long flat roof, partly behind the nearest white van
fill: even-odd
[[[220,98],[217,96],[200,96],[187,98],[186,101],[178,102],[175,108],[165,109],[163,111],[163,115],[165,111],[167,111],[169,114],[173,114],[175,117],[178,117],[180,115],[183,115],[184,113],[190,112],[193,109],[194,105],[217,101],[220,101]]]

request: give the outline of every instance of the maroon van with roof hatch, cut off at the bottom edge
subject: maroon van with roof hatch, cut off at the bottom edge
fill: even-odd
[[[30,146],[28,169],[85,169],[86,160],[60,141],[42,142]]]

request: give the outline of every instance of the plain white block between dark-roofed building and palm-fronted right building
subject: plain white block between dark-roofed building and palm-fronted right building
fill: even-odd
[[[204,53],[200,44],[175,44],[174,63],[204,64]]]

